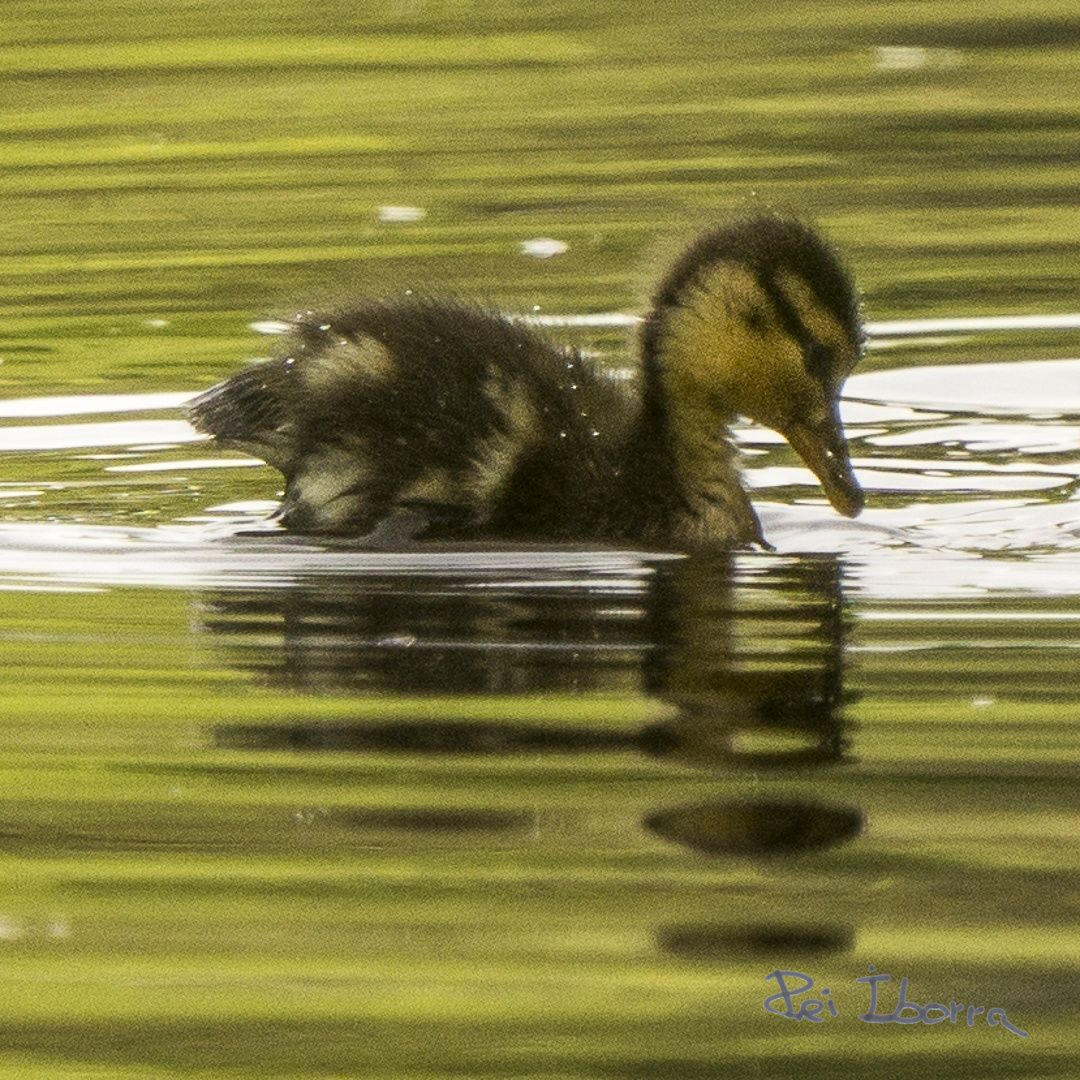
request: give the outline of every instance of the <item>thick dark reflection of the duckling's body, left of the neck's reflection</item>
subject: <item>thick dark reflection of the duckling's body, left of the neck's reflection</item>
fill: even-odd
[[[552,585],[445,575],[335,578],[219,593],[202,624],[238,667],[308,693],[530,694],[630,691],[640,597],[600,580]],[[556,578],[557,581],[557,578]],[[617,610],[612,610],[612,608]]]

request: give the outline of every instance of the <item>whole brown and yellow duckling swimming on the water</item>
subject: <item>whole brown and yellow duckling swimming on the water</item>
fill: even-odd
[[[297,316],[282,356],[190,416],[284,475],[280,521],[301,532],[733,548],[764,542],[739,415],[783,434],[841,514],[862,509],[838,414],[862,342],[833,251],[764,215],[706,232],[661,282],[637,383],[503,315],[409,295]]]

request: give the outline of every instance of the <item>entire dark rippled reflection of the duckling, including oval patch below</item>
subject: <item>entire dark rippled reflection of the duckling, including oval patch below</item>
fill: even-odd
[[[221,725],[213,745],[445,757],[631,753],[777,782],[847,759],[847,622],[835,558],[694,556],[649,570],[635,578],[549,566],[481,577],[448,563],[443,572],[206,596],[201,624],[229,663],[274,688],[365,703],[355,720]],[[602,694],[644,696],[671,715],[627,729],[613,705],[607,724],[595,718]],[[508,700],[496,719],[401,716],[403,699],[436,696]],[[592,718],[582,719],[573,699],[590,696]],[[380,701],[396,715],[373,714]],[[525,718],[538,710],[543,719]],[[821,851],[863,827],[856,808],[789,797],[775,785],[730,794],[657,808],[640,824],[724,858]],[[427,827],[420,819],[401,824]]]

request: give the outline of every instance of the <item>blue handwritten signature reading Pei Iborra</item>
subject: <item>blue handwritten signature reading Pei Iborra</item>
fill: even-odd
[[[956,1024],[963,1016],[968,1022],[968,1027],[975,1026],[975,1017],[985,1014],[986,1023],[989,1027],[1003,1027],[1013,1035],[1018,1035],[1022,1039],[1027,1038],[1027,1031],[1021,1030],[1015,1024],[1010,1023],[1004,1009],[983,1005],[964,1005],[962,1001],[949,1001],[947,1005],[931,1001],[929,1004],[919,1004],[907,996],[907,980],[901,978],[900,993],[896,996],[896,1003],[891,1012],[879,1011],[878,987],[883,983],[892,982],[892,975],[875,973],[874,966],[869,968],[870,974],[856,978],[856,983],[862,983],[869,987],[869,1002],[866,1012],[859,1015],[864,1024],[944,1024],[948,1021]],[[813,978],[801,971],[784,971],[777,969],[770,971],[765,976],[765,981],[772,980],[777,984],[777,994],[765,999],[765,1011],[771,1016],[783,1016],[785,1020],[808,1020],[813,1024],[821,1024],[826,1020],[836,1018],[840,1011],[833,999],[833,991],[827,987],[822,987],[811,996],[814,990]],[[882,1007],[883,1008],[883,1007]]]

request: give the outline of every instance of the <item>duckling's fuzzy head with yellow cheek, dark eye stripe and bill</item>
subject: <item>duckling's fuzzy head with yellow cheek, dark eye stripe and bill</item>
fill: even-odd
[[[676,456],[692,460],[746,416],[791,443],[837,511],[862,510],[839,417],[863,347],[859,301],[813,230],[761,215],[699,238],[658,289],[643,346]]]

